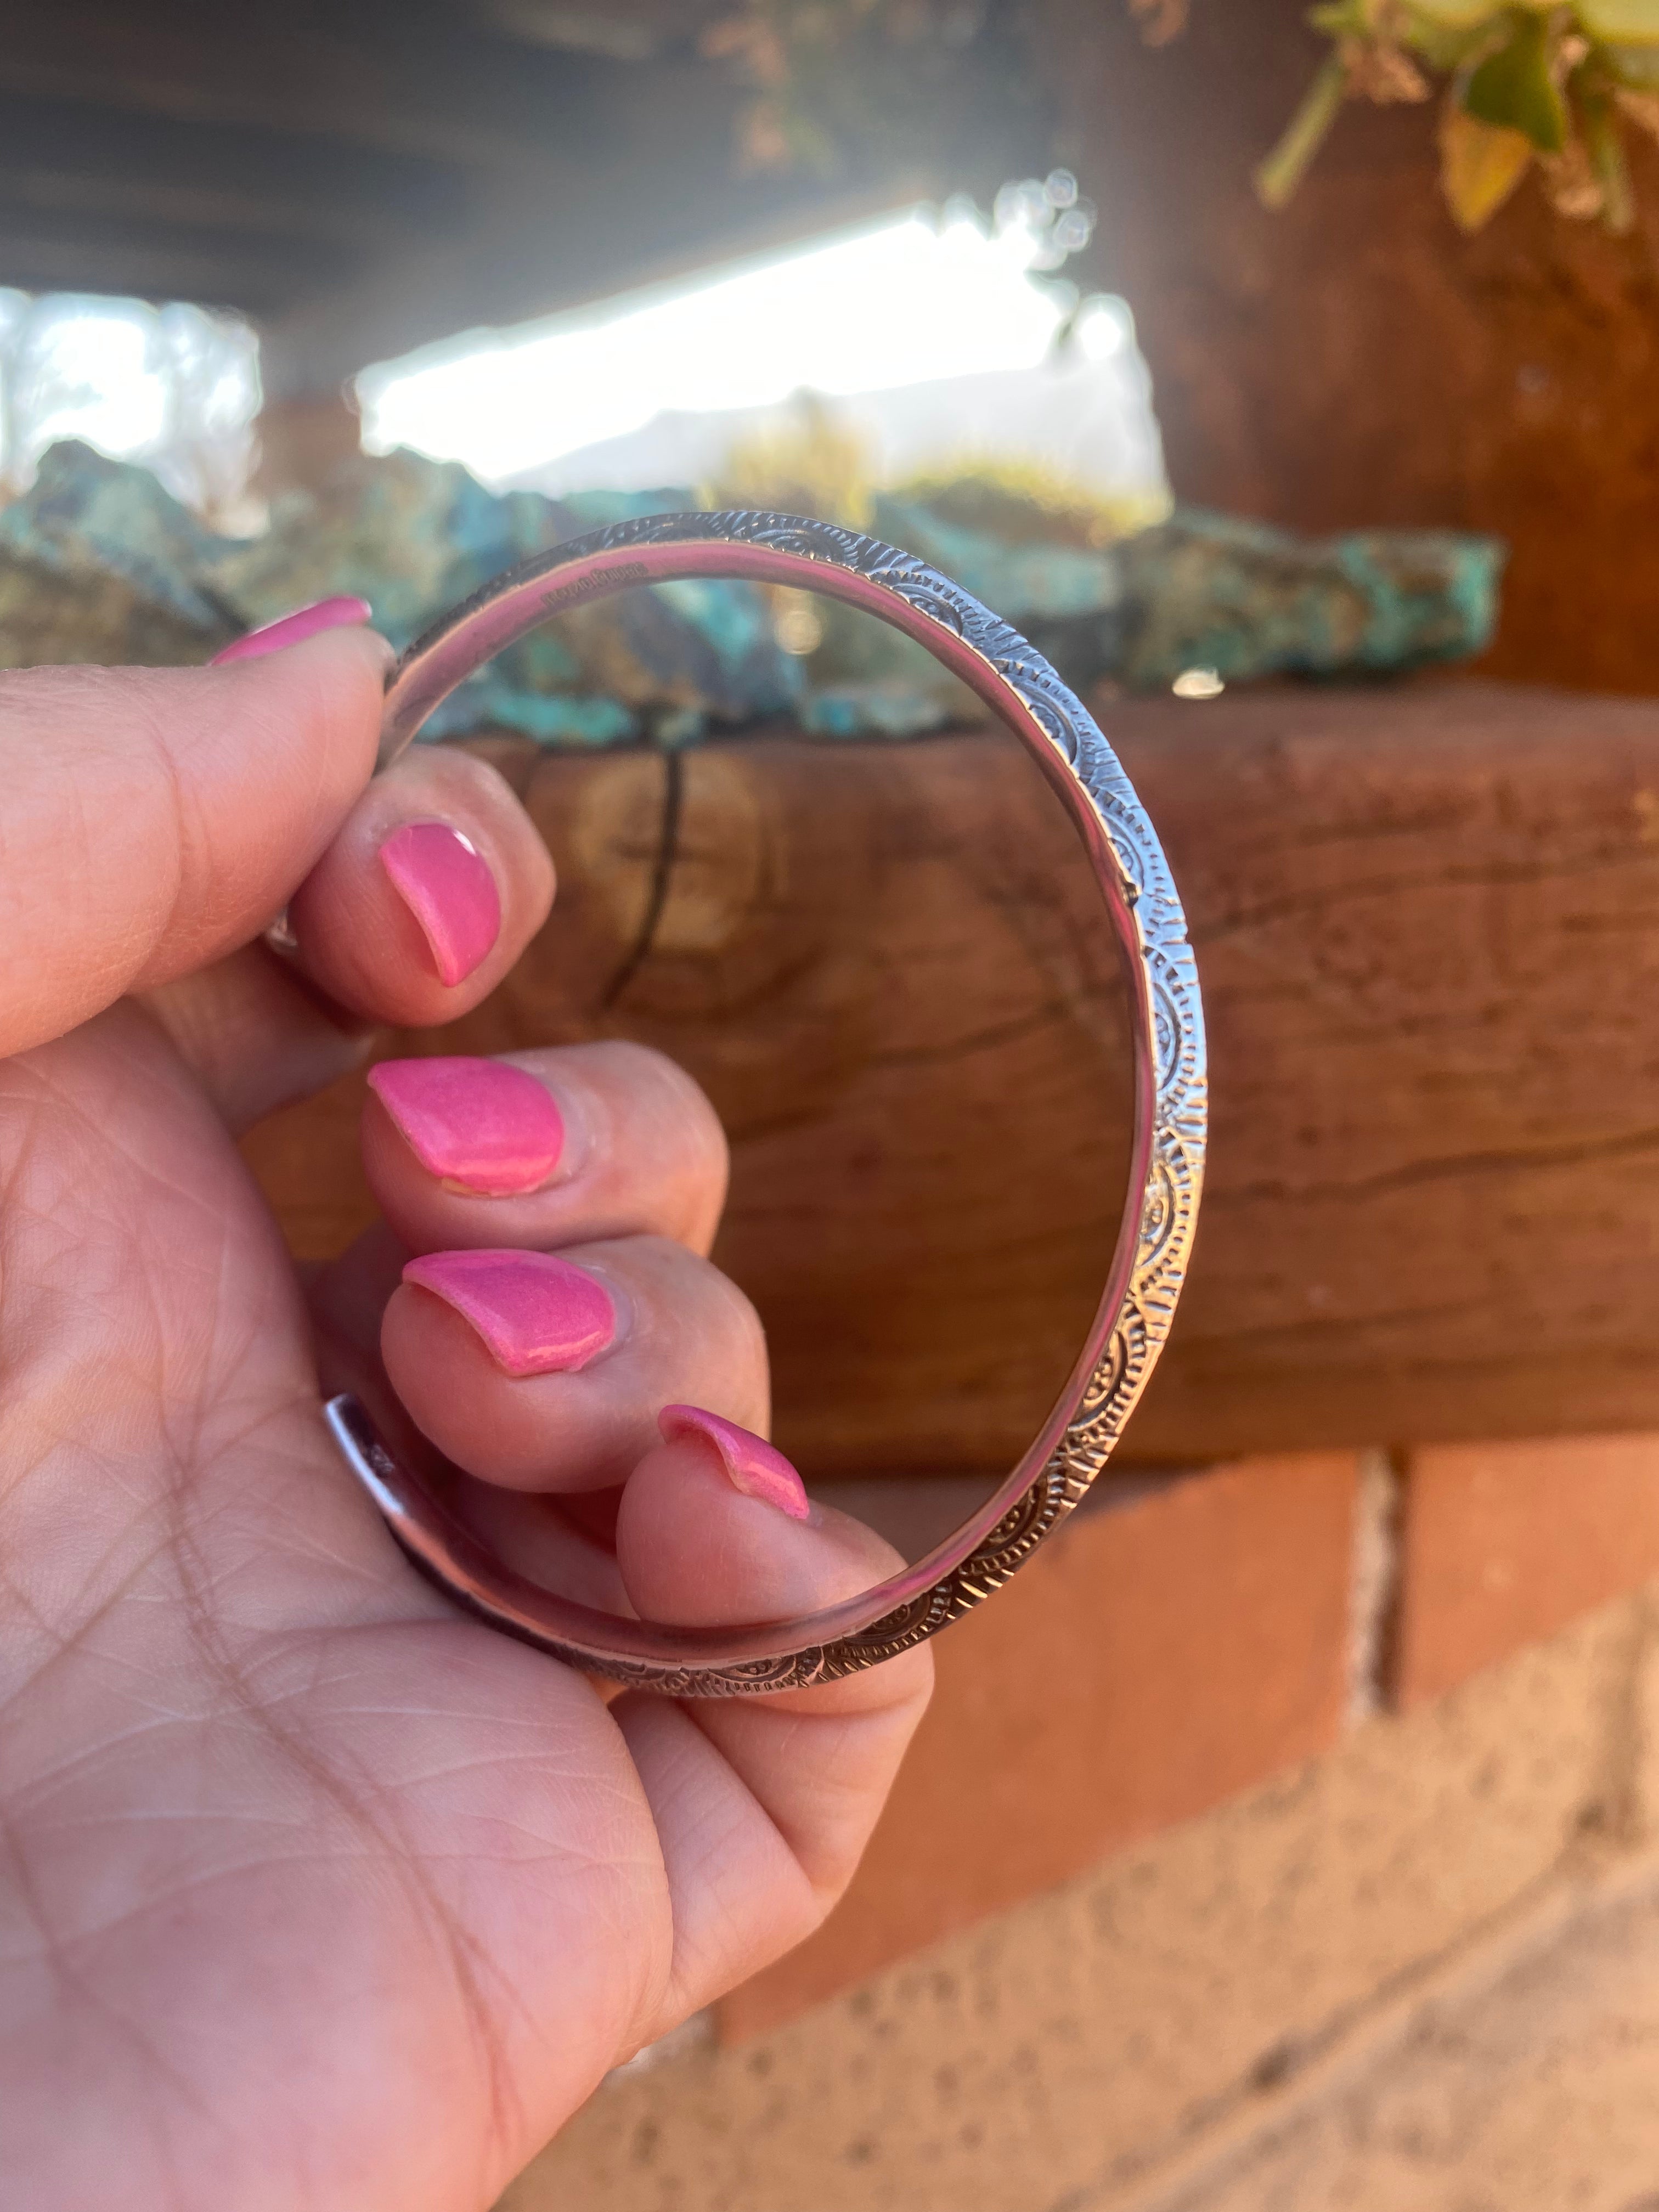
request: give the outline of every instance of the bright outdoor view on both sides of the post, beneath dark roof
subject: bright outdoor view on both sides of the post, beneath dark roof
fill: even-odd
[[[1133,316],[1060,274],[1093,221],[1066,170],[1004,186],[989,210],[964,195],[900,206],[465,330],[369,363],[316,407],[358,411],[369,453],[403,447],[491,489],[557,495],[714,484],[816,400],[872,478],[1006,451],[1146,520],[1168,500]],[[7,290],[0,305],[9,491],[51,445],[84,438],[232,535],[268,524],[254,321],[73,292]]]

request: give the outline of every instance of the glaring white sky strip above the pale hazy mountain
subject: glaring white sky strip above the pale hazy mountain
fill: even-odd
[[[666,409],[832,398],[1044,358],[1064,294],[1029,230],[914,210],[602,314],[469,332],[358,378],[365,445],[462,460],[487,482],[639,429]]]

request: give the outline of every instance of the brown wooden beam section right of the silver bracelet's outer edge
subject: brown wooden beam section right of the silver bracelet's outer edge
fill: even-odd
[[[1659,1425],[1659,706],[1453,684],[1121,728],[1214,1075],[1135,1447]]]

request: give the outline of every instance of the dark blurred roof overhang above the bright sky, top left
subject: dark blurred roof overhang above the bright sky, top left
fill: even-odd
[[[991,55],[918,124],[920,153],[900,128],[843,177],[743,175],[748,95],[695,58],[701,18],[675,33],[672,9],[630,11],[655,55],[635,64],[591,51],[584,20],[460,0],[294,0],[281,22],[217,0],[24,11],[0,40],[11,281],[248,307],[268,325],[270,389],[307,398],[480,323],[905,199],[987,195],[1042,157],[1044,122],[1004,97]],[[119,223],[135,226],[126,263]],[[210,230],[239,241],[246,272]],[[288,265],[259,239],[305,254]]]

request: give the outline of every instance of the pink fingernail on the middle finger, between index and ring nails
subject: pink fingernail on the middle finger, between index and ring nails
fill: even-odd
[[[540,1190],[560,1164],[564,1119],[507,1060],[383,1060],[369,1091],[422,1168],[449,1186],[504,1199]]]

